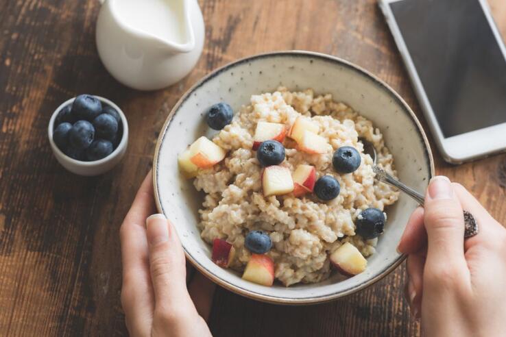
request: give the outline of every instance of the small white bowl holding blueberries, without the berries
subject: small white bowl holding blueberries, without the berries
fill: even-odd
[[[60,105],[51,116],[51,120],[49,120],[49,126],[47,127],[47,136],[49,136],[49,144],[51,144],[51,149],[53,150],[54,156],[56,157],[56,160],[64,168],[67,168],[68,171],[71,171],[72,173],[75,173],[76,175],[86,175],[86,176],[93,176],[93,175],[101,175],[103,173],[106,173],[111,168],[116,166],[116,164],[119,163],[121,158],[123,158],[123,155],[125,155],[127,145],[128,145],[128,122],[126,120],[125,114],[123,114],[123,111],[116,105],[115,103],[112,103],[112,101],[109,101],[108,99],[105,99],[104,97],[95,96],[97,99],[99,99],[102,103],[105,103],[107,105],[110,105],[112,108],[115,108],[116,111],[119,113],[119,116],[121,116],[121,123],[123,123],[123,136],[121,136],[121,141],[119,142],[118,147],[115,149],[115,151],[112,151],[110,155],[108,155],[106,158],[102,158],[101,160],[95,160],[94,162],[82,162],[80,160],[75,160],[73,158],[70,158],[68,155],[63,153],[56,144],[53,141],[53,129],[54,129],[54,121],[56,119],[56,116],[58,115],[58,112],[62,110],[65,106],[71,104],[75,97],[69,99],[68,101],[65,101]]]

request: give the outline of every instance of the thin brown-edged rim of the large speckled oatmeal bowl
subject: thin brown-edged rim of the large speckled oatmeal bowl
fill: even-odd
[[[169,112],[169,116],[167,116],[167,119],[165,120],[165,123],[163,124],[162,130],[161,130],[162,132],[160,132],[160,135],[158,136],[158,140],[156,142],[155,153],[154,153],[154,159],[153,159],[154,197],[155,197],[156,208],[158,209],[158,212],[163,213],[163,208],[160,203],[160,197],[158,194],[158,183],[157,183],[157,180],[158,180],[158,154],[160,152],[162,140],[165,137],[165,134],[167,132],[167,127],[169,126],[169,123],[171,122],[173,116],[178,112],[182,103],[184,103],[184,101],[186,101],[187,97],[189,97],[193,93],[193,91],[195,91],[197,88],[202,86],[209,79],[212,79],[213,77],[215,77],[219,73],[226,71],[228,68],[232,68],[232,67],[236,66],[237,64],[242,64],[244,62],[251,62],[253,60],[258,60],[260,58],[269,58],[269,57],[273,57],[273,56],[274,57],[276,57],[276,56],[298,56],[298,57],[302,56],[302,57],[308,57],[308,58],[318,58],[320,60],[326,60],[326,61],[337,63],[341,66],[346,66],[346,67],[352,69],[353,71],[355,71],[355,73],[357,73],[357,75],[365,76],[365,77],[368,77],[369,79],[372,79],[376,83],[376,85],[380,86],[383,90],[385,90],[387,92],[388,95],[390,95],[391,97],[396,99],[396,101],[398,103],[400,103],[400,105],[404,108],[402,111],[407,113],[408,116],[411,117],[411,120],[415,123],[417,130],[418,130],[418,135],[420,136],[420,139],[423,141],[423,143],[425,145],[425,155],[426,155],[426,159],[429,162],[428,163],[429,164],[429,174],[431,175],[429,177],[429,179],[435,175],[434,159],[433,159],[431,147],[429,145],[429,140],[424,132],[422,124],[418,120],[418,117],[415,115],[413,110],[411,110],[409,105],[406,103],[406,101],[404,99],[402,99],[402,97],[400,97],[400,95],[393,88],[391,88],[388,84],[386,84],[382,79],[379,79],[378,77],[376,77],[376,75],[373,75],[372,73],[370,73],[370,71],[365,70],[361,66],[357,66],[357,64],[353,64],[352,62],[346,61],[341,58],[337,58],[336,56],[333,56],[333,55],[328,55],[328,54],[324,54],[324,53],[317,53],[315,51],[303,51],[303,50],[272,51],[272,52],[268,52],[268,53],[259,53],[256,55],[248,56],[246,58],[241,58],[239,60],[236,60],[234,62],[230,62],[228,64],[225,64],[224,66],[221,66],[221,67],[215,69],[214,71],[208,73],[208,75],[202,77],[202,79],[197,81],[195,84],[193,84],[193,86],[191,86],[191,88],[189,88],[189,90],[184,92],[184,95],[182,95],[182,97],[178,100],[176,105],[173,106],[173,108],[171,109],[171,112]],[[227,282],[225,279],[221,279],[220,277],[218,277],[217,275],[213,274],[211,271],[206,269],[204,266],[202,266],[197,260],[195,260],[195,258],[193,258],[193,256],[189,253],[189,251],[186,251],[186,247],[183,247],[183,250],[184,250],[184,255],[186,255],[186,258],[197,269],[197,271],[200,271],[200,273],[202,273],[203,275],[205,275],[206,277],[211,279],[213,282],[215,282],[219,286],[222,286],[223,288],[226,288],[227,290],[230,290],[238,295],[248,297],[250,299],[255,299],[257,301],[263,301],[266,303],[285,304],[285,305],[306,305],[306,304],[324,303],[324,302],[328,302],[328,301],[333,301],[335,299],[339,299],[341,297],[346,297],[348,295],[352,295],[355,292],[358,292],[359,290],[362,290],[364,288],[367,288],[368,286],[371,286],[372,284],[375,284],[379,280],[383,279],[383,277],[389,275],[389,273],[391,273],[391,271],[394,271],[394,269],[396,269],[402,263],[402,261],[404,261],[406,258],[406,256],[404,254],[398,255],[398,257],[396,259],[392,260],[391,264],[389,264],[389,266],[387,266],[385,269],[383,269],[383,271],[381,271],[377,275],[374,275],[373,277],[371,277],[367,281],[365,281],[361,284],[358,284],[357,286],[354,286],[352,288],[349,288],[347,290],[335,292],[335,293],[332,293],[329,295],[317,296],[317,297],[304,297],[304,298],[300,298],[300,299],[291,299],[291,298],[287,298],[287,297],[273,297],[273,296],[269,296],[269,295],[263,295],[263,294],[259,294],[258,292],[253,292],[248,289],[242,288],[240,286],[236,286],[234,284],[231,284],[231,283]]]

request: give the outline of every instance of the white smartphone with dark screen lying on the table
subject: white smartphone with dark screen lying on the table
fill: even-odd
[[[379,0],[444,159],[506,150],[506,48],[485,0]]]

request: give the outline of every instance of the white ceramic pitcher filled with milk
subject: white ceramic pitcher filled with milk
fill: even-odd
[[[100,0],[97,49],[109,73],[139,90],[178,82],[197,63],[204,19],[197,0]]]

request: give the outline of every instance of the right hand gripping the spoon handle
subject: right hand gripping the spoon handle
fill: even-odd
[[[463,210],[479,234],[464,241]],[[406,297],[426,336],[506,336],[506,229],[460,184],[434,177],[398,251]]]

